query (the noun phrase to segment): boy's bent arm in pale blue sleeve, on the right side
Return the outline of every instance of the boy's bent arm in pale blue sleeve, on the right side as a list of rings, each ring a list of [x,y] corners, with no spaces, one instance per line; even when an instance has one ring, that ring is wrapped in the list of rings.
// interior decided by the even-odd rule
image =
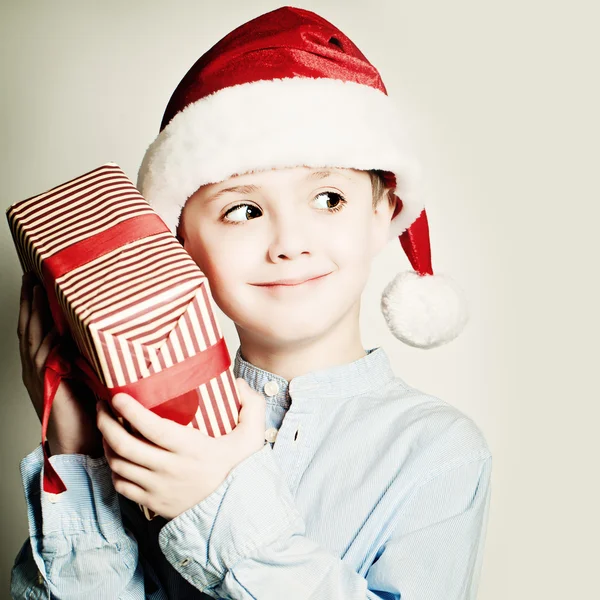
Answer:
[[[480,453],[424,481],[394,523],[381,524],[391,531],[366,557],[365,577],[305,536],[268,444],[167,523],[159,541],[175,569],[214,598],[474,600],[490,471],[491,456]]]

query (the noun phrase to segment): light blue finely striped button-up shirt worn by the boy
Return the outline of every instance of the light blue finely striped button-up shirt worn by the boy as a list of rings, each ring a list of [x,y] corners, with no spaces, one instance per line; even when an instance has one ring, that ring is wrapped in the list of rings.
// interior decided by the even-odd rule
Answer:
[[[21,462],[30,537],[15,598],[472,600],[490,502],[477,425],[395,376],[382,348],[281,377],[234,373],[265,394],[266,443],[207,498],[146,521],[106,459],[57,455],[68,490]]]

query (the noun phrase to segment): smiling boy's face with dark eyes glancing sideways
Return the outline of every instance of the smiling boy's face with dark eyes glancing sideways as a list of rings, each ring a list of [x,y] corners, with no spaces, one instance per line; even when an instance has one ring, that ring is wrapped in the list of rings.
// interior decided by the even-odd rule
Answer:
[[[393,212],[386,199],[375,210],[372,198],[364,171],[249,173],[201,187],[180,235],[240,338],[283,348],[358,325]]]

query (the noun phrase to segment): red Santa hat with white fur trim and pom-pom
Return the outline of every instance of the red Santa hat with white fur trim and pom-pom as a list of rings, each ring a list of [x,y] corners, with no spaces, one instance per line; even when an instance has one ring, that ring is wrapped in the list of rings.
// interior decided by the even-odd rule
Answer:
[[[379,72],[339,29],[283,7],[238,27],[192,66],[149,146],[138,188],[176,232],[205,184],[283,167],[381,170],[398,197],[391,236],[414,271],[398,274],[381,310],[403,342],[433,348],[467,322],[453,282],[433,275],[419,167]]]

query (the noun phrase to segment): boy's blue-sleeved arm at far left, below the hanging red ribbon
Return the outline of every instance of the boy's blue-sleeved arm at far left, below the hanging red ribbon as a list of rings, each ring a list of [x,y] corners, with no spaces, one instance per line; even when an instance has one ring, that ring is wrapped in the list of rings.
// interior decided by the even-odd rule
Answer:
[[[56,498],[41,492],[41,445],[21,461],[30,537],[12,569],[12,597],[143,600],[137,542],[123,527],[106,459],[50,462],[67,486]]]

